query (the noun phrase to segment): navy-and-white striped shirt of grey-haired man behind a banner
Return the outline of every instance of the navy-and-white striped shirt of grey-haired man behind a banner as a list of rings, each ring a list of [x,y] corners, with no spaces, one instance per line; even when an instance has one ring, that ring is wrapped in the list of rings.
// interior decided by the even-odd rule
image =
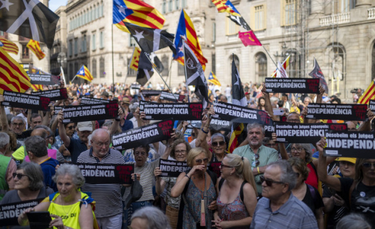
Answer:
[[[109,149],[108,154],[100,161],[93,155],[91,147],[79,155],[77,163],[125,164],[125,161],[122,154],[115,149]],[[95,216],[97,218],[122,213],[121,184],[85,183],[81,190],[92,193],[91,197],[96,201]]]

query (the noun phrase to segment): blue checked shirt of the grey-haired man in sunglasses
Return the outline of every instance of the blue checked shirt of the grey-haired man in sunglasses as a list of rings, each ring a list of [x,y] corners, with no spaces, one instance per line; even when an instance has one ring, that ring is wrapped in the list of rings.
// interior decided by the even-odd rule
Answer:
[[[318,229],[311,209],[290,193],[288,201],[272,212],[269,199],[259,200],[250,229]]]

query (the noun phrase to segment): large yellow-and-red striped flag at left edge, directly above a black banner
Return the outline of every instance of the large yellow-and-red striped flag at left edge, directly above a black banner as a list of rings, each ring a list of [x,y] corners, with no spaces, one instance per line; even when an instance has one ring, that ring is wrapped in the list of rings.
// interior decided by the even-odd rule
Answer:
[[[30,77],[21,65],[0,48],[0,94],[3,91],[26,92],[31,86]]]

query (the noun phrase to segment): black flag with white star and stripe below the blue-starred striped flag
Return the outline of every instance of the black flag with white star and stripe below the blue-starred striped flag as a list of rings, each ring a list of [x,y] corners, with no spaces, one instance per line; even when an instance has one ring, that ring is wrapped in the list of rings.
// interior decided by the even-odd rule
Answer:
[[[174,36],[165,30],[151,29],[125,22],[126,28],[136,40],[142,51],[150,54],[161,48],[168,47],[176,54],[176,47],[173,44]]]

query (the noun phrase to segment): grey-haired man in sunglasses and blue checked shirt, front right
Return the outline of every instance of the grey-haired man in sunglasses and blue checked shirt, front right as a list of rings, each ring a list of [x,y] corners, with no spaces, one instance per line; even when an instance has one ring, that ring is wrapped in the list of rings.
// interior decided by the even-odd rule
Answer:
[[[287,161],[268,165],[261,176],[263,198],[255,208],[250,229],[318,229],[314,213],[291,192],[296,180],[297,176]]]

